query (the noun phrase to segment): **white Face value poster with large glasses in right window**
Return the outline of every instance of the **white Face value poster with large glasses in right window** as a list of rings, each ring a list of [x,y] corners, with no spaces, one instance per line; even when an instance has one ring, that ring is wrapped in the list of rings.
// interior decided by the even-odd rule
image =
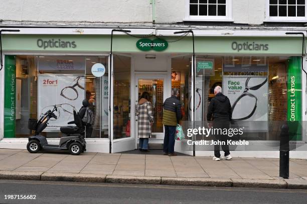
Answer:
[[[233,121],[267,121],[267,77],[224,76],[223,88],[230,100]],[[267,126],[254,122],[249,123],[248,129],[267,130]]]

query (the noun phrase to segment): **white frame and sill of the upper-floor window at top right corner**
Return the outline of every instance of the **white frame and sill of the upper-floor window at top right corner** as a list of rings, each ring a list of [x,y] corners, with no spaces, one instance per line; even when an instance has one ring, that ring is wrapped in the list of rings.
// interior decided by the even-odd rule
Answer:
[[[270,1],[265,0],[265,22],[307,22],[307,0],[305,0],[305,17],[270,17]]]

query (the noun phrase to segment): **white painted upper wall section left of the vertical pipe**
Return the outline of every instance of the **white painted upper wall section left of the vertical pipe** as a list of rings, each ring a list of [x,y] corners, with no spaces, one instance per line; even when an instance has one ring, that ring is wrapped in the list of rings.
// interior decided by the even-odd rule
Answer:
[[[25,22],[152,22],[149,0],[1,0],[0,19]]]

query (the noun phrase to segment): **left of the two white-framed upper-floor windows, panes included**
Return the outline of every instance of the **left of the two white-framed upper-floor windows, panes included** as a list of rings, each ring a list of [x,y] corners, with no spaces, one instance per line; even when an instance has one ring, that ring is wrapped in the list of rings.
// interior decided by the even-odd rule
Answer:
[[[230,21],[231,0],[186,0],[187,21]]]

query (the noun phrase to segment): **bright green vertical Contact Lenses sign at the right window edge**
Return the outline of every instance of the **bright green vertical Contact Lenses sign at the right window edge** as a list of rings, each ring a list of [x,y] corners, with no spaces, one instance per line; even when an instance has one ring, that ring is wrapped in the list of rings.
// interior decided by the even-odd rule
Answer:
[[[290,140],[300,141],[301,135],[301,58],[290,57],[287,76],[287,120]]]

